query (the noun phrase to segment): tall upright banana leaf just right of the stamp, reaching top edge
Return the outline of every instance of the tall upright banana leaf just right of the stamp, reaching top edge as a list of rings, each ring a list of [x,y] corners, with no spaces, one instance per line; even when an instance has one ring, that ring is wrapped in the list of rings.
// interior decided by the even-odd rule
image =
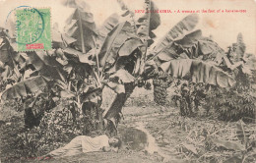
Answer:
[[[89,5],[83,0],[69,0],[66,5],[75,8],[67,20],[65,32],[77,39],[76,47],[83,53],[95,47],[96,24]]]

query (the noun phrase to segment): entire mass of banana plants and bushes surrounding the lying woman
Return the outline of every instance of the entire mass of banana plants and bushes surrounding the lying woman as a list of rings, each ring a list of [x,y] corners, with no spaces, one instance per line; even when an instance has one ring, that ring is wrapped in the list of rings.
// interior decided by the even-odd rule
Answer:
[[[230,64],[230,54],[203,37],[200,29],[193,30],[197,15],[170,28],[150,50],[156,37],[153,30],[160,26],[159,13],[145,13],[135,20],[134,13],[122,1],[118,3],[124,14],[111,15],[101,27],[96,27],[84,1],[64,3],[74,12],[64,32],[54,24],[53,49],[48,51],[17,52],[15,37],[0,28],[1,98],[22,103],[19,111],[24,112],[25,128],[15,140],[19,150],[25,149],[22,155],[38,156],[74,136],[95,131],[117,135],[127,98],[136,86],[150,88],[150,79],[160,105],[165,103],[166,88],[179,85],[175,101],[182,116],[194,116],[205,104],[222,120],[255,118],[251,75],[244,73],[240,61]],[[158,8],[145,0],[145,9]],[[242,54],[235,60],[245,51],[241,36],[238,40],[234,46]],[[101,108],[104,86],[115,92],[105,111]]]

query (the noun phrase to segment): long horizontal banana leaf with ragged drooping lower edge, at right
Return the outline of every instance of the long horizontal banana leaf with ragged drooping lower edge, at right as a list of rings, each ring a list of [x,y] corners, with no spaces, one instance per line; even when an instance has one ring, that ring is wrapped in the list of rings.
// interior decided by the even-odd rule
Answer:
[[[200,60],[171,60],[161,64],[160,69],[175,78],[189,76],[193,82],[204,82],[221,87],[230,87],[235,83],[234,79],[220,68]]]

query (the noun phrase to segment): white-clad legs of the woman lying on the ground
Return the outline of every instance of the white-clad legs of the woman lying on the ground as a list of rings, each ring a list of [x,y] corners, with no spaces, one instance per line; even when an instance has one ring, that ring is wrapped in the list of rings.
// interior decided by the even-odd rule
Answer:
[[[63,157],[81,153],[83,136],[76,136],[67,145],[51,151],[48,155],[51,157]]]

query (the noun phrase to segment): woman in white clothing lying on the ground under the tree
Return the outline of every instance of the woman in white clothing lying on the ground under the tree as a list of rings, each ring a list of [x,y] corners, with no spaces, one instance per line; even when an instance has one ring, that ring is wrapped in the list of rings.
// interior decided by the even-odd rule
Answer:
[[[51,157],[65,157],[76,154],[96,152],[96,151],[118,151],[121,146],[121,140],[119,137],[102,136],[76,136],[67,145],[60,147],[56,150],[44,155],[44,158]]]

